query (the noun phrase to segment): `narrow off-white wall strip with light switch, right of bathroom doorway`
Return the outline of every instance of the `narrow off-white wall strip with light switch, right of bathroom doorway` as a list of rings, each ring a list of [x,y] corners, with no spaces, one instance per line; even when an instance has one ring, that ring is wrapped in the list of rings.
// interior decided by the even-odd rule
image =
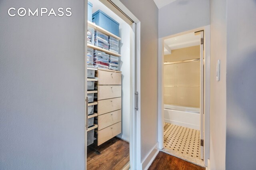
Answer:
[[[210,170],[225,169],[226,11],[226,0],[210,1]],[[220,81],[216,81],[216,63],[218,59],[220,59]]]

